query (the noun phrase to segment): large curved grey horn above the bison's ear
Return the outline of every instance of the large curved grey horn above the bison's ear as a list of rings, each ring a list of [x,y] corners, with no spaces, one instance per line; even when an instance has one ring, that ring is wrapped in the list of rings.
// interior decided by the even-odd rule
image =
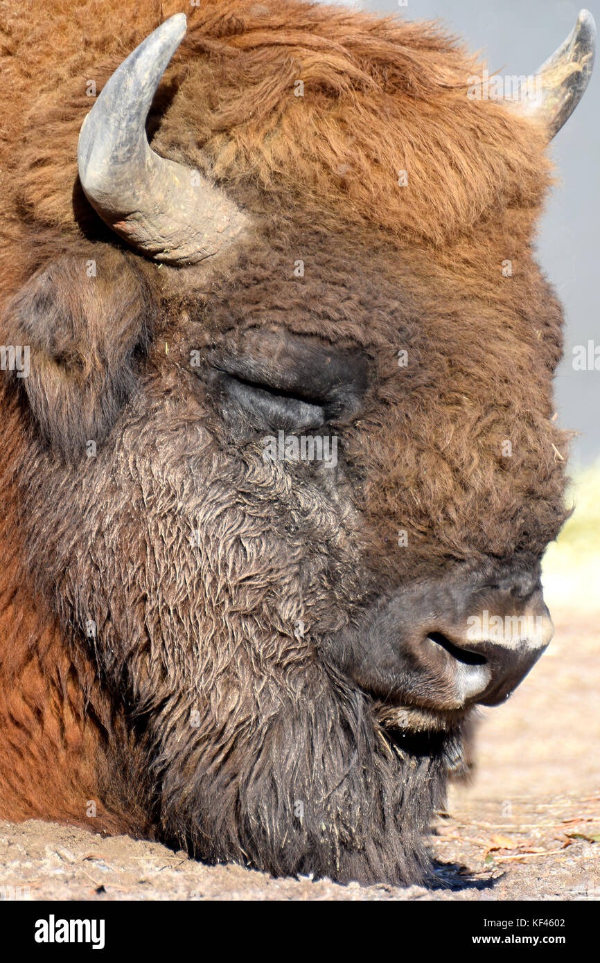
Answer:
[[[199,171],[159,157],[147,142],[152,97],[186,32],[165,21],[105,84],[79,133],[81,186],[103,221],[157,261],[194,264],[216,254],[246,223]]]

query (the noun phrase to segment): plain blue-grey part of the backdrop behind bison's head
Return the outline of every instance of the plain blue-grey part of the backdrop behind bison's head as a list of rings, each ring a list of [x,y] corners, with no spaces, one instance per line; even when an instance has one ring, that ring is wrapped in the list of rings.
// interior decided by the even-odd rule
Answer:
[[[570,0],[408,0],[402,8],[397,0],[362,0],[346,6],[411,20],[439,18],[482,52],[490,73],[509,74],[535,73],[571,32],[581,9]],[[600,27],[600,0],[588,0],[587,10]],[[548,198],[537,242],[538,260],[564,305],[565,356],[556,399],[561,426],[581,432],[573,443],[573,468],[600,456],[600,371],[574,371],[572,365],[575,345],[590,339],[600,345],[599,101],[600,55],[584,99],[552,143],[561,183]]]

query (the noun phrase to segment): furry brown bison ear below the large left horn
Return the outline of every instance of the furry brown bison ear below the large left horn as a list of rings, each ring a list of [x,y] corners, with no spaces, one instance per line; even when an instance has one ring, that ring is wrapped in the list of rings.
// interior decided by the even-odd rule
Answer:
[[[106,438],[135,386],[155,314],[143,269],[112,249],[53,261],[13,299],[4,337],[55,451],[75,459]]]

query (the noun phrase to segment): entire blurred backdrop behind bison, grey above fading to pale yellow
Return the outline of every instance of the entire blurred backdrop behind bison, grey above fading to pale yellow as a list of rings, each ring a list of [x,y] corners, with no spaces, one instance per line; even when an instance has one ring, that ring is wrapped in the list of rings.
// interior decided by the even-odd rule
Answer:
[[[490,73],[517,75],[535,73],[571,32],[581,9],[571,0],[348,0],[344,5],[411,20],[438,19],[448,33],[482,53]],[[599,0],[587,0],[587,9],[600,25]],[[578,434],[569,462],[568,498],[575,512],[546,553],[543,582],[553,614],[570,610],[600,617],[600,56],[586,95],[550,150],[560,179],[539,225],[537,256],[566,320],[555,382],[559,424]],[[598,349],[598,370],[577,371],[573,351],[589,341]]]

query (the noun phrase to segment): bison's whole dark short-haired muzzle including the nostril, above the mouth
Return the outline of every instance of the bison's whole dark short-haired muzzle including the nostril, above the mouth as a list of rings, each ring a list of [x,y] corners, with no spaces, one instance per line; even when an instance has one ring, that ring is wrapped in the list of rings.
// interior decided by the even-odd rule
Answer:
[[[454,712],[506,699],[553,632],[537,570],[458,569],[402,586],[321,651],[378,699]]]

